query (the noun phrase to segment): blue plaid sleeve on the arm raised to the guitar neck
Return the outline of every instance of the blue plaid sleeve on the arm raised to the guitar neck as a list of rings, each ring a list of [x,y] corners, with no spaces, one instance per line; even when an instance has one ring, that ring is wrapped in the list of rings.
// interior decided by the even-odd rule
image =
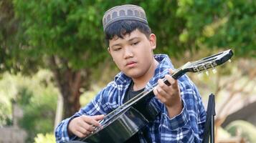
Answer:
[[[202,99],[196,87],[190,81],[179,82],[183,109],[173,118],[161,104],[160,142],[202,142],[204,133],[205,111]]]

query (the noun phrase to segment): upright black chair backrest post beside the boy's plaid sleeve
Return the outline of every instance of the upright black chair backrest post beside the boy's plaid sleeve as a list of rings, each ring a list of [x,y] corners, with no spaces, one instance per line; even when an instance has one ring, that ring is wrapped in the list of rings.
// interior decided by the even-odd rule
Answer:
[[[203,143],[209,143],[209,137],[211,135],[211,143],[214,143],[214,116],[215,113],[215,97],[214,94],[209,95],[207,104],[207,119],[204,124],[204,137]]]

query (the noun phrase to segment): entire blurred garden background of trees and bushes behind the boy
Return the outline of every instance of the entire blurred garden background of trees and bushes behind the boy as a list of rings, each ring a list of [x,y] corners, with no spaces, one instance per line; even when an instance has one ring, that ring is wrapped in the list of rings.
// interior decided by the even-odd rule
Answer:
[[[188,74],[205,107],[216,96],[216,142],[256,142],[256,1],[0,0],[0,142],[55,142],[54,127],[118,72],[102,17],[137,4],[176,68],[232,49],[217,74]]]

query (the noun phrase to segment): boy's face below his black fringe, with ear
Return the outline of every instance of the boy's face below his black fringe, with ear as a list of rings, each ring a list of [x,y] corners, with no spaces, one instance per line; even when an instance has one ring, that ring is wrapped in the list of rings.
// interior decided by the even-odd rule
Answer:
[[[153,49],[156,49],[156,36],[151,34],[147,38],[136,29],[131,34],[123,36],[123,39],[118,36],[111,39],[108,51],[125,75],[140,78],[152,69]]]

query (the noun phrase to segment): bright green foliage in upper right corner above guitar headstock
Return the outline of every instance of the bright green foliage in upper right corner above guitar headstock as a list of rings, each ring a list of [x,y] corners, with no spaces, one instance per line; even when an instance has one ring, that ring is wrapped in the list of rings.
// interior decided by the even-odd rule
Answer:
[[[180,35],[197,48],[232,47],[236,56],[256,57],[255,1],[181,0],[177,16],[186,27]]]

